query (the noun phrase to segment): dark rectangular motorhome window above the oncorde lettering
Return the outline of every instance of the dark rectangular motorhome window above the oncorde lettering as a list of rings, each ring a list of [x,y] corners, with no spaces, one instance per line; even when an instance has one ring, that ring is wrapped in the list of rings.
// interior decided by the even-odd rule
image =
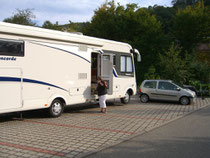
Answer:
[[[0,55],[24,56],[24,42],[0,39]]]

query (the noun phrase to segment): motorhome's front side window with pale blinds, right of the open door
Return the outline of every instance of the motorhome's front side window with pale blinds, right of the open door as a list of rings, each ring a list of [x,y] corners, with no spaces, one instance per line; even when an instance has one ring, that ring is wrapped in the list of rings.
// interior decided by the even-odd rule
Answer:
[[[132,73],[133,64],[131,56],[121,56],[120,57],[120,71],[122,73]]]

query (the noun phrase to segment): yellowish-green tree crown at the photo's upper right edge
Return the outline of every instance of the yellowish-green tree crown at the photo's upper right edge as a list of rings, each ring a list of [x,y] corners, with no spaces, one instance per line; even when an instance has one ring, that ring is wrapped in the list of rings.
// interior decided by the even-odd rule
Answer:
[[[174,17],[172,34],[184,51],[192,51],[198,43],[209,38],[209,8],[203,2],[179,9]]]

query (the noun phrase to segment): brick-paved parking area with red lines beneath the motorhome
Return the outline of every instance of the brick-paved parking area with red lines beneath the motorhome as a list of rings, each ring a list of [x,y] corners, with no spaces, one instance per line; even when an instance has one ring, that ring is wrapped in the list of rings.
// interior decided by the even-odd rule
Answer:
[[[85,157],[210,105],[210,98],[192,105],[178,103],[108,103],[108,113],[96,104],[72,106],[59,118],[42,111],[0,115],[1,158]]]

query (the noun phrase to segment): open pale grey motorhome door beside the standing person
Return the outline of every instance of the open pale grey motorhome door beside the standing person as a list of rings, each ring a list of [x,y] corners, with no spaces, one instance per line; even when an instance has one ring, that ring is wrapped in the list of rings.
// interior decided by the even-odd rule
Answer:
[[[113,55],[105,54],[101,55],[101,77],[108,84],[108,94],[113,93]]]

